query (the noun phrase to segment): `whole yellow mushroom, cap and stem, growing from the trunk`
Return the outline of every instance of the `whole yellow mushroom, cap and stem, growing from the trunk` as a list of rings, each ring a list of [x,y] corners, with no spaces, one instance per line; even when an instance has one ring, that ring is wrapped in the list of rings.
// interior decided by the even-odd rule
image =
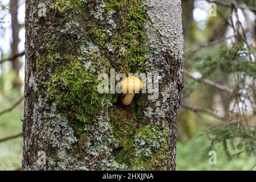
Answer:
[[[127,106],[133,101],[134,94],[142,89],[142,81],[138,77],[129,76],[121,82],[120,88],[123,92],[121,101],[123,105]]]

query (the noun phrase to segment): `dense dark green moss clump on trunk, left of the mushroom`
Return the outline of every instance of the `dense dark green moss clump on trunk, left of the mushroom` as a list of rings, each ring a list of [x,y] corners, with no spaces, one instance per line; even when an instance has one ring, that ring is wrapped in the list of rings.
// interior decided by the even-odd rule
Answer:
[[[85,71],[83,61],[73,56],[68,59],[69,64],[56,68],[48,82],[48,92],[57,96],[55,100],[60,109],[72,113],[82,123],[92,123],[109,95],[98,93],[97,74],[90,68]]]

